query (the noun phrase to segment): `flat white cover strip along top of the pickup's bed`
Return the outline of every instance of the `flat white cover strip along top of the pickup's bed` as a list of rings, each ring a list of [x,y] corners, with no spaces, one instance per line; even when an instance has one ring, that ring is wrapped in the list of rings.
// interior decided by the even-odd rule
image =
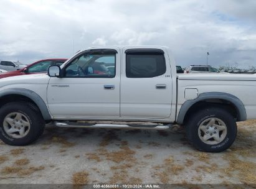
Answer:
[[[178,75],[179,80],[237,80],[256,81],[253,74],[223,74],[223,73],[186,73]]]

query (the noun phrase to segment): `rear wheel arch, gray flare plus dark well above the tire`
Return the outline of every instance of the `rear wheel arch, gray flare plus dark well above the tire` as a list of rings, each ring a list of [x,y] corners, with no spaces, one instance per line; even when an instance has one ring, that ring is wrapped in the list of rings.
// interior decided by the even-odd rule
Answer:
[[[179,110],[176,122],[183,124],[189,114],[200,108],[206,108],[206,106],[225,108],[232,113],[237,121],[245,121],[247,119],[244,104],[239,98],[229,93],[209,92],[201,93],[198,98],[186,101]]]

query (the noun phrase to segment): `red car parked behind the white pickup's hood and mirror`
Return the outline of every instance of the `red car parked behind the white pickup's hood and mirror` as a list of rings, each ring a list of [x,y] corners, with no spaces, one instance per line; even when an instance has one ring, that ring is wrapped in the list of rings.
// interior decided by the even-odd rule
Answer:
[[[34,74],[34,73],[46,73],[47,69],[51,65],[62,65],[67,59],[66,58],[51,58],[51,59],[44,59],[39,60],[37,62],[32,63],[31,65],[28,65],[25,68],[22,68],[21,70],[16,71],[9,71],[6,73],[0,74],[1,78],[7,78],[9,76],[17,76],[17,75],[26,75],[26,74]]]

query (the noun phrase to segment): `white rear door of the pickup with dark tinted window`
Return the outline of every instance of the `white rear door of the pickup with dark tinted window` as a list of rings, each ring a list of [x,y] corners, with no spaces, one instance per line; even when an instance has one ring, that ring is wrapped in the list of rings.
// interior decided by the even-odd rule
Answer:
[[[124,48],[121,70],[121,118],[170,116],[173,86],[164,49]]]

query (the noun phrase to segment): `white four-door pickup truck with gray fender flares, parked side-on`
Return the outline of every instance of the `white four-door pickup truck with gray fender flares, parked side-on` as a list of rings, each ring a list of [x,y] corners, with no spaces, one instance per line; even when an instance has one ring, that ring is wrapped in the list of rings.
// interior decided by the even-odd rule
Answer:
[[[196,149],[220,152],[234,142],[237,121],[256,118],[255,94],[254,75],[176,75],[168,47],[92,47],[49,67],[48,75],[0,79],[0,139],[31,144],[50,121],[131,129],[178,123]]]

